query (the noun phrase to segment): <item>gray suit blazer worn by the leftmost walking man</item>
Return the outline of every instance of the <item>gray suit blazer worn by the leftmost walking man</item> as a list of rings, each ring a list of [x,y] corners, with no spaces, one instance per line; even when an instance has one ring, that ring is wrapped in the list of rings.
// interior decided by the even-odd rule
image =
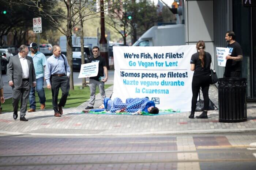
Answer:
[[[33,82],[36,82],[33,59],[29,56],[26,56],[26,58],[29,66],[29,84],[30,87],[33,87]],[[14,83],[14,87],[20,87],[22,85],[22,67],[18,54],[10,57],[7,67],[7,74],[8,82],[12,81]]]

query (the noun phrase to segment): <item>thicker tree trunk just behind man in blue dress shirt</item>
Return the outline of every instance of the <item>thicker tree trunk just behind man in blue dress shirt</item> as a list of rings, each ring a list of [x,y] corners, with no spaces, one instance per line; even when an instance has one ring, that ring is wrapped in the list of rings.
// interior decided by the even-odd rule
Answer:
[[[71,4],[70,0],[67,0],[67,60],[70,67],[69,85],[70,90],[74,90],[73,82],[73,61],[72,61],[72,25],[71,25]]]

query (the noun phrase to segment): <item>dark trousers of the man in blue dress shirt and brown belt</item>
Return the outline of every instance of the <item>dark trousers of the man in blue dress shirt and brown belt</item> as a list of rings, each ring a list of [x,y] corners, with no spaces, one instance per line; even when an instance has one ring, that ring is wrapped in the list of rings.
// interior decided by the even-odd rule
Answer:
[[[69,91],[69,78],[68,76],[57,76],[52,75],[50,78],[52,84],[52,105],[55,113],[60,113],[58,110],[58,106],[64,107],[68,97]],[[58,104],[58,95],[59,89],[61,88],[62,96],[60,98],[60,103]]]

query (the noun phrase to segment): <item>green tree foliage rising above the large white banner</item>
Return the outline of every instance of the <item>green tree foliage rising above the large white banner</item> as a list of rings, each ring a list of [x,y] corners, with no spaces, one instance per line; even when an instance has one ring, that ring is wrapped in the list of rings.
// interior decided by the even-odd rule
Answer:
[[[131,16],[128,19],[128,16]],[[106,23],[123,37],[126,44],[127,35],[132,36],[133,43],[137,40],[137,35],[142,35],[155,23],[163,20],[162,15],[158,15],[157,7],[148,0],[135,0],[122,3],[120,8],[113,9],[108,14]]]

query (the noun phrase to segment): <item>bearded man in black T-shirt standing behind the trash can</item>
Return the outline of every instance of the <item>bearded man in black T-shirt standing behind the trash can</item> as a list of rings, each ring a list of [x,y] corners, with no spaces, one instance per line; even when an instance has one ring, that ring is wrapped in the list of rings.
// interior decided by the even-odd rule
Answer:
[[[227,48],[229,48],[229,55],[226,56],[226,67],[224,72],[224,78],[240,77],[241,65],[242,65],[242,48],[236,41],[236,35],[233,31],[227,31],[225,40]]]

